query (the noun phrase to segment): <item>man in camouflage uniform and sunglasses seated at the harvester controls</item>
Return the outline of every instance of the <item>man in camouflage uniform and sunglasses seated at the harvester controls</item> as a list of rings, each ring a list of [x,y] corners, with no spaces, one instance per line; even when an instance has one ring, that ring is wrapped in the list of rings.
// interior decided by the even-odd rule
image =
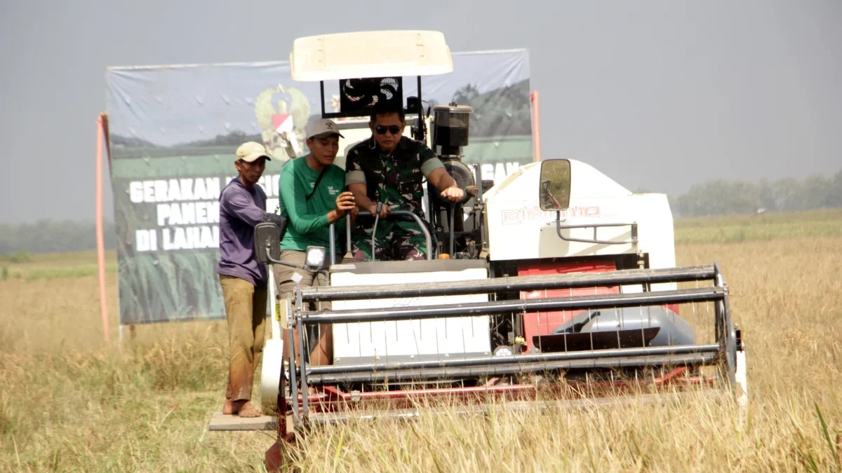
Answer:
[[[465,195],[433,150],[402,136],[406,125],[400,104],[378,101],[369,121],[371,138],[352,147],[345,157],[345,183],[356,205],[376,215],[377,204],[382,204],[381,219],[392,210],[409,210],[423,218],[424,178],[451,202]],[[371,230],[370,223],[354,229],[355,262],[371,259]],[[426,258],[424,233],[415,221],[379,221],[374,246],[378,261]]]

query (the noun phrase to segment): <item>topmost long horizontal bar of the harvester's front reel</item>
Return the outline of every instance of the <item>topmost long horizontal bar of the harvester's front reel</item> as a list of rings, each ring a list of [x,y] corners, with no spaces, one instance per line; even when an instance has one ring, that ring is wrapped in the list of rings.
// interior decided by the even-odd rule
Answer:
[[[390,286],[319,286],[301,289],[301,300],[360,300],[426,295],[491,294],[500,291],[554,290],[610,287],[630,284],[680,283],[713,280],[713,265],[663,269],[621,269],[605,274],[553,274],[507,276],[446,283],[396,284]]]

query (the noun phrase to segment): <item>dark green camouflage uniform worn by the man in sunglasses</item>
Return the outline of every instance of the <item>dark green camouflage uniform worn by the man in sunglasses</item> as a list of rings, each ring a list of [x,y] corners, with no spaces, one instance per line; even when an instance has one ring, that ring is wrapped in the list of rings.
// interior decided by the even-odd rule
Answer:
[[[422,181],[438,167],[444,167],[433,150],[421,141],[402,136],[391,153],[381,151],[372,136],[350,149],[345,157],[345,184],[365,183],[368,198],[392,210],[409,210],[424,218]],[[360,218],[351,234],[355,261],[371,259],[371,230],[374,219]],[[415,221],[378,221],[376,259],[424,259],[424,233]]]

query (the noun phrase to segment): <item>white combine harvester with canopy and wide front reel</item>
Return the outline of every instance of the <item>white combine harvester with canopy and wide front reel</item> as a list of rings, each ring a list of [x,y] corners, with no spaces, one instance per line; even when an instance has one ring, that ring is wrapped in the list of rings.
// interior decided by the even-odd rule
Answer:
[[[327,271],[330,285],[296,288],[273,311],[261,383],[274,416],[214,417],[212,430],[277,429],[266,457],[278,468],[282,445],[304,428],[370,417],[370,406],[376,417],[414,417],[435,412],[419,405],[443,400],[450,412],[454,401],[457,411],[483,412],[492,403],[587,406],[701,388],[732,390],[745,405],[743,344],[722,271],[675,267],[665,195],[632,194],[566,159],[520,167],[496,185],[477,181],[478,168],[461,162],[472,109],[438,106],[430,117],[422,106],[421,76],[453,70],[440,33],[302,38],[290,64],[294,79],[322,82],[322,116],[339,119],[346,136],[340,149],[370,136],[369,112],[325,113],[324,81],[386,88],[403,103],[393,79],[418,76],[418,97],[406,100],[413,137],[439,154],[466,201],[428,192],[426,219],[387,217],[416,221],[428,261],[326,261],[333,247],[308,248],[309,269]],[[331,230],[336,242],[336,231],[350,228]],[[261,262],[279,263],[277,226],[258,225],[255,245]],[[305,310],[328,300],[330,311]],[[304,329],[325,324],[332,364],[307,364]],[[301,362],[285,357],[284,332],[297,337]]]

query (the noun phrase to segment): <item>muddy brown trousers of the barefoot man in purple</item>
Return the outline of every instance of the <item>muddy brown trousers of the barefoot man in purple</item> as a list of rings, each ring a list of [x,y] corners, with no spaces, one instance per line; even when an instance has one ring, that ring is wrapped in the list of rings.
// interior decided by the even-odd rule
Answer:
[[[219,275],[228,319],[228,387],[225,396],[232,401],[250,401],[254,370],[260,363],[266,338],[267,288],[254,287],[245,279]]]

